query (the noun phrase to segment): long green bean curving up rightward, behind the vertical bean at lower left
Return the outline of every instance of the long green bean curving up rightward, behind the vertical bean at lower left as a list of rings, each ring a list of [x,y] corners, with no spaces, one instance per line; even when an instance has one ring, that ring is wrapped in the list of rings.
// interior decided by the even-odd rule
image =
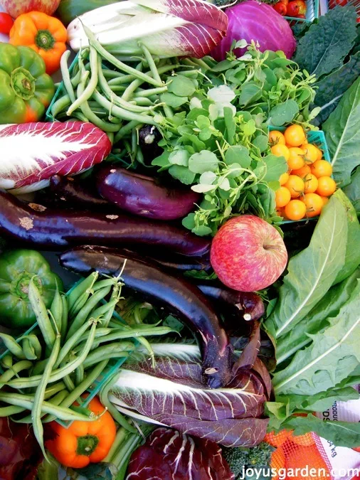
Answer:
[[[88,356],[92,343],[94,343],[96,324],[97,324],[97,321],[95,320],[92,321],[90,335],[88,336],[88,340],[86,341],[83,351],[80,353],[80,356],[75,358],[75,360],[70,361],[65,366],[58,368],[58,370],[54,370],[53,373],[51,373],[50,375],[48,383],[53,383],[53,382],[57,382],[58,380],[62,380],[65,377],[65,375],[69,375],[70,373],[72,373],[75,370],[75,368],[78,368],[78,366],[85,361],[85,358]],[[15,380],[11,380],[11,382],[8,383],[8,386],[12,388],[16,388],[17,390],[21,388],[37,387],[41,381],[41,377],[42,375],[33,375],[30,378],[16,378]],[[1,386],[1,383],[0,383],[0,386]]]

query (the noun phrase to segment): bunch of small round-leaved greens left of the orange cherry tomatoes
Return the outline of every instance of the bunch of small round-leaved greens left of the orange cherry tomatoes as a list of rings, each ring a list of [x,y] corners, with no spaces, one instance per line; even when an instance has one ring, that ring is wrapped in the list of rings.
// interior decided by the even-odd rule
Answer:
[[[245,46],[239,41],[233,48]],[[287,164],[270,153],[268,125],[308,127],[317,114],[309,110],[316,79],[282,52],[262,53],[254,43],[240,58],[231,50],[220,63],[201,61],[196,78],[193,71],[166,79],[161,100],[171,114],[154,116],[164,153],[152,164],[204,193],[183,220],[197,235],[216,233],[230,215],[245,211],[276,224],[275,191]]]

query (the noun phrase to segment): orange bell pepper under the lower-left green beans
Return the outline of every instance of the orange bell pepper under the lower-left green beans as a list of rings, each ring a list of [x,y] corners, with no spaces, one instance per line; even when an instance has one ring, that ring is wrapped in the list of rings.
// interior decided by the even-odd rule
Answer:
[[[96,397],[87,408],[96,415],[104,412]],[[93,422],[75,420],[68,428],[57,422],[51,422],[49,426],[55,438],[46,441],[46,448],[60,464],[75,469],[105,459],[116,436],[115,422],[109,412]]]

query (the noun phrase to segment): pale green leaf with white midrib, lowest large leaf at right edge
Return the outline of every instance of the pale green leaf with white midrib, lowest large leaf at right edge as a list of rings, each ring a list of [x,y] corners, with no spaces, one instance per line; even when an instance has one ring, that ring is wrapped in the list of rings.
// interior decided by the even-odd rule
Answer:
[[[298,351],[290,364],[275,373],[272,384],[277,395],[316,395],[334,388],[360,363],[360,282],[339,314],[329,319],[312,344]]]

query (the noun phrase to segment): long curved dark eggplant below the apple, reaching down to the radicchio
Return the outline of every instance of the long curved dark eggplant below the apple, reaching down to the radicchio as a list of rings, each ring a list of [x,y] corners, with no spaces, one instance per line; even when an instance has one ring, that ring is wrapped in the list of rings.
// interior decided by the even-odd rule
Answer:
[[[164,306],[198,334],[204,385],[220,388],[231,379],[233,348],[221,319],[196,285],[142,257],[129,257],[129,252],[106,247],[75,247],[61,253],[59,261],[62,267],[83,275],[94,271],[118,275],[122,271],[127,288],[134,289],[152,304]]]

